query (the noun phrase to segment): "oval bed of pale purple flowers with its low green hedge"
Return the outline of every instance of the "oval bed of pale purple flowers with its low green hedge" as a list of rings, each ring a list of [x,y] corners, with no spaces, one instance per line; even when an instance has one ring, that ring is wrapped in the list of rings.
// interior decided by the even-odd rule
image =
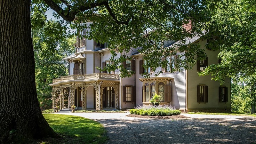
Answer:
[[[139,105],[138,107],[134,107],[134,109],[131,109],[130,113],[141,116],[172,116],[179,115],[181,112],[180,110],[176,110],[176,108],[171,105]]]

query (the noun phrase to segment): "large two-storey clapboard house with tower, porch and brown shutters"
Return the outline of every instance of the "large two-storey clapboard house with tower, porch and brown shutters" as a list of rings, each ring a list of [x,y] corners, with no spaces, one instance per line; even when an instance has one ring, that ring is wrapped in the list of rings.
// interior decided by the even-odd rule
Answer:
[[[84,29],[80,34],[85,35],[89,30]],[[75,105],[78,109],[128,109],[149,105],[150,98],[156,93],[161,96],[160,104],[172,105],[182,111],[230,110],[230,78],[220,85],[220,82],[211,80],[211,76],[197,74],[208,65],[217,64],[219,52],[206,49],[207,40],[200,37],[194,37],[190,42],[200,43],[207,55],[206,60],[198,60],[191,70],[171,73],[170,68],[159,67],[156,71],[162,70],[164,73],[154,76],[150,68],[143,68],[143,54],[130,51],[132,60],[126,60],[124,66],[127,70],[135,71],[135,74],[121,78],[119,69],[100,72],[96,68],[111,64],[111,54],[106,44],[77,37],[76,52],[63,59],[69,62],[69,75],[53,79],[50,84],[52,107],[60,105],[60,109],[64,109]],[[164,44],[171,46],[175,41],[166,41]],[[169,59],[176,57],[174,55]],[[144,72],[150,73],[150,78],[141,76]]]

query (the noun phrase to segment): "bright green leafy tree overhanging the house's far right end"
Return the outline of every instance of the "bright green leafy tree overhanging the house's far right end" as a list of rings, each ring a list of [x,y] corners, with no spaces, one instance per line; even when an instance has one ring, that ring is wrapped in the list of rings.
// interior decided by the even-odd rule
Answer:
[[[224,82],[231,77],[236,82],[252,86],[252,111],[255,113],[256,80],[256,2],[249,0],[223,1],[212,11],[206,37],[208,46],[220,49],[221,62],[208,66],[200,75],[213,76]],[[237,93],[239,94],[239,93]],[[248,95],[247,95],[248,96]]]

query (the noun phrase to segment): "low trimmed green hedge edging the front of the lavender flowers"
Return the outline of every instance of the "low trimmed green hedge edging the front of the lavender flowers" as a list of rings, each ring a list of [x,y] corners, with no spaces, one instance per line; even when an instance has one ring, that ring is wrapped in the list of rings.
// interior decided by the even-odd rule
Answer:
[[[181,114],[180,110],[131,109],[131,114],[141,116],[173,116]]]

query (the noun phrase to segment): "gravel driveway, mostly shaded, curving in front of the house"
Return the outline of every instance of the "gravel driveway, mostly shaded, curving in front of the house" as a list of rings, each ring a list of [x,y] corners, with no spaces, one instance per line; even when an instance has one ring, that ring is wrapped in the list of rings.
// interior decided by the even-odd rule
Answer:
[[[256,117],[189,115],[190,119],[141,119],[127,113],[69,113],[104,125],[109,140],[118,143],[256,143]]]

